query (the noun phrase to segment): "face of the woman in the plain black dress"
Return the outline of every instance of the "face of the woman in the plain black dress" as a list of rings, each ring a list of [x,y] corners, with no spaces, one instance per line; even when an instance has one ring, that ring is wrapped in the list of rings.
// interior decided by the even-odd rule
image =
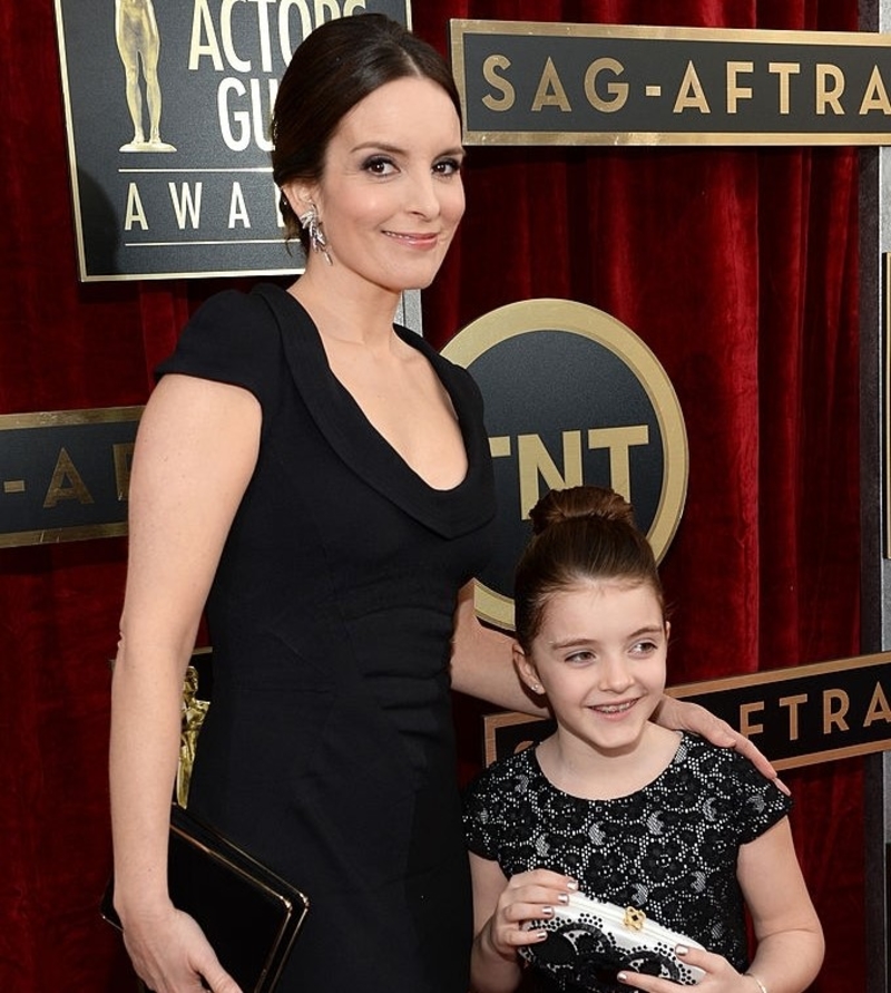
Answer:
[[[462,158],[458,115],[431,80],[398,79],[356,104],[321,182],[303,189],[339,275],[396,292],[429,285],[464,212]]]

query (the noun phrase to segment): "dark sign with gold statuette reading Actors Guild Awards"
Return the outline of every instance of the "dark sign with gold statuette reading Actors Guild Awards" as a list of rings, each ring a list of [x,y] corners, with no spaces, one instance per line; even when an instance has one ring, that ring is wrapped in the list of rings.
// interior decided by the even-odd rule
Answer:
[[[323,21],[409,0],[56,0],[79,276],[284,274],[268,120]]]

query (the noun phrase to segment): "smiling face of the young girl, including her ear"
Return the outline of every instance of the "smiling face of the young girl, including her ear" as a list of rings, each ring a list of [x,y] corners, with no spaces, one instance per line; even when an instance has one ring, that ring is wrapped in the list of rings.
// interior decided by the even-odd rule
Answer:
[[[548,600],[527,685],[544,688],[559,732],[605,755],[638,744],[665,689],[668,624],[648,585],[590,582]]]

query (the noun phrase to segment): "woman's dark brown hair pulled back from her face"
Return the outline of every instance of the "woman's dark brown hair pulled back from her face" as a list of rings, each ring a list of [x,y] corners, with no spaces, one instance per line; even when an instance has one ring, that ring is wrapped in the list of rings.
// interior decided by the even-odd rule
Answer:
[[[332,135],[360,100],[386,82],[422,77],[451,98],[458,119],[461,100],[440,53],[382,13],[356,13],[326,21],[306,36],[282,77],[272,116],[272,175],[276,186],[322,178]],[[280,206],[286,237],[309,235],[284,194]]]

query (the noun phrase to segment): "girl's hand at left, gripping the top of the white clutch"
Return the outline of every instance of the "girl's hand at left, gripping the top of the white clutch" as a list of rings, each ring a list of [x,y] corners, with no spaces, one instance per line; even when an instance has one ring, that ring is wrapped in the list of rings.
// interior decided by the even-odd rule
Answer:
[[[575,879],[550,869],[512,876],[483,928],[487,943],[502,958],[512,961],[521,945],[533,945],[547,937],[548,933],[535,927],[535,922],[552,917],[554,908],[567,903],[575,889]]]

